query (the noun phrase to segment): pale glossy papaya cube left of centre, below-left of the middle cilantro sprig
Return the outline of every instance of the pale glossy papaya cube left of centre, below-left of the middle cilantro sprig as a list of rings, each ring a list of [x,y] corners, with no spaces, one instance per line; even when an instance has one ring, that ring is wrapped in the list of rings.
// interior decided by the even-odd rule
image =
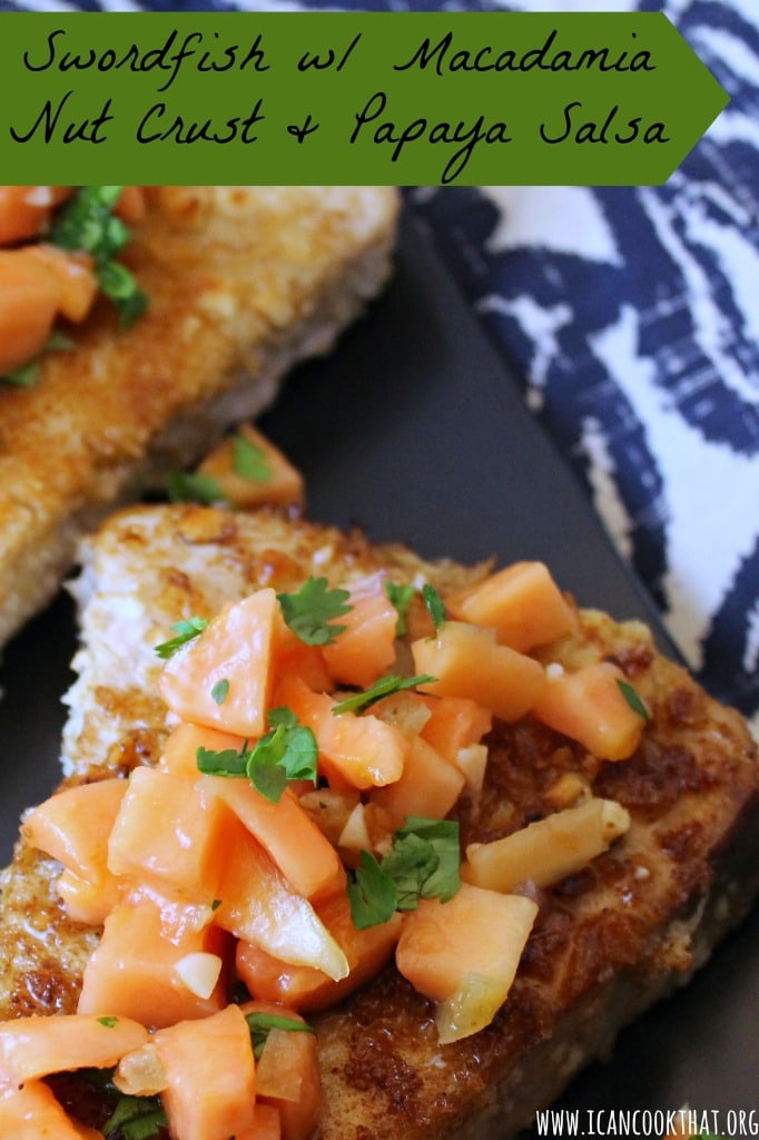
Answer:
[[[190,902],[215,898],[230,814],[201,780],[136,768],[111,832],[109,871]]]

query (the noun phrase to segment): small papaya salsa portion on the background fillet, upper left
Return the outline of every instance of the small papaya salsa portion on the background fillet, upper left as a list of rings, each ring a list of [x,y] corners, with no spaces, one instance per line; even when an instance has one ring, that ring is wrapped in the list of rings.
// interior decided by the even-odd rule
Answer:
[[[44,351],[70,344],[98,293],[123,323],[145,296],[116,254],[146,210],[139,186],[0,186],[0,382],[28,386]]]

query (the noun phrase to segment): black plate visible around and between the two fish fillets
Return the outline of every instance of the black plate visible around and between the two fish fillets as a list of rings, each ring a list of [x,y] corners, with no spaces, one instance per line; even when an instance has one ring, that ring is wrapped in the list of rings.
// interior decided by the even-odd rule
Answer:
[[[374,539],[403,539],[427,556],[544,559],[581,604],[647,620],[660,645],[675,652],[583,492],[408,220],[392,287],[333,357],[291,377],[262,426],[305,474],[312,518],[360,523]],[[72,606],[62,596],[6,653],[5,858],[19,812],[57,780],[59,697],[71,679],[73,649]],[[729,1127],[728,1113],[752,1109],[758,946],[754,912],[687,991],[628,1029],[610,1064],[576,1082],[562,1105],[580,1110],[579,1134],[614,1134],[609,1119],[593,1129],[588,1109],[688,1102],[719,1110],[717,1131]],[[759,1115],[752,1119],[756,1133]],[[740,1134],[752,1134],[749,1118]]]

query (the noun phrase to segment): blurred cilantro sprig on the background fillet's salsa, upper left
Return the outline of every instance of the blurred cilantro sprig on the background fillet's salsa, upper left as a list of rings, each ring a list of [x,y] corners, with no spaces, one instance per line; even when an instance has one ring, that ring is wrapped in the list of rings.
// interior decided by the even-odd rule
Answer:
[[[123,189],[81,186],[58,213],[49,241],[64,250],[83,250],[95,259],[98,285],[114,302],[125,326],[145,311],[147,298],[130,270],[116,261],[129,241],[129,227],[113,213]]]

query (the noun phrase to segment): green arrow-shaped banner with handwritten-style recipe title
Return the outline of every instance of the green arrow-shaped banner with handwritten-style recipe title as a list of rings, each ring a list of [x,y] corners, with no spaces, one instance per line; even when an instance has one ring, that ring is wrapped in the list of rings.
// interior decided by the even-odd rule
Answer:
[[[8,185],[664,182],[728,97],[661,13],[5,13]]]

